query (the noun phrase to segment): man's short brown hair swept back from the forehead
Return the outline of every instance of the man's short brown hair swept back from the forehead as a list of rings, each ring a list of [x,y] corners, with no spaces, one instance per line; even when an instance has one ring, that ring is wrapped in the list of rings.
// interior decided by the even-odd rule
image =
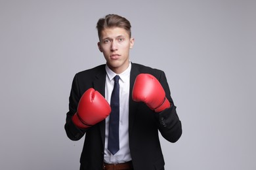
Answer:
[[[108,14],[104,18],[100,18],[97,22],[96,28],[98,29],[98,38],[100,39],[104,29],[111,27],[121,27],[125,29],[129,37],[131,37],[131,24],[129,20],[117,14]]]

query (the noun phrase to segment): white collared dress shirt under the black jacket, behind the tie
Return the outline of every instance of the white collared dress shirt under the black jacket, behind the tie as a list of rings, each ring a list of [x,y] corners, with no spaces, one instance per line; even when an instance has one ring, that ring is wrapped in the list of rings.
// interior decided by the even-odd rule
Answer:
[[[114,73],[108,65],[106,65],[106,84],[105,84],[105,98],[110,103],[111,94],[114,88]],[[119,74],[119,151],[115,155],[112,155],[108,150],[108,127],[110,116],[106,118],[106,137],[105,137],[105,149],[104,149],[104,161],[106,163],[123,163],[131,161],[131,154],[129,148],[129,90],[130,90],[130,73],[131,73],[131,61],[129,67]]]

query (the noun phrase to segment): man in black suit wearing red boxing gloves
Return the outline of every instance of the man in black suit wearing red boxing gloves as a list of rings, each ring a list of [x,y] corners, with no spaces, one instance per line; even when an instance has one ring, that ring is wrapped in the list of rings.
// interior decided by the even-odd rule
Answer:
[[[162,170],[158,131],[171,143],[182,133],[165,73],[130,61],[127,19],[109,14],[96,27],[106,64],[75,75],[65,124],[71,140],[85,135],[80,169]]]

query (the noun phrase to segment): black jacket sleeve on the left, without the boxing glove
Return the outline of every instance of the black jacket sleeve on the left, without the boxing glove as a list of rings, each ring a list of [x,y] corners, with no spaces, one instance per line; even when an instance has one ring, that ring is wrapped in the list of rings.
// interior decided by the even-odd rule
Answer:
[[[75,114],[75,112],[77,112],[77,105],[79,103],[80,98],[81,98],[81,93],[79,92],[77,75],[75,75],[74,80],[72,82],[71,92],[70,92],[69,111],[66,114],[66,124],[64,126],[66,130],[66,134],[68,135],[68,138],[70,138],[72,141],[77,141],[81,139],[81,137],[83,137],[86,131],[84,129],[79,129],[72,122],[72,116]]]

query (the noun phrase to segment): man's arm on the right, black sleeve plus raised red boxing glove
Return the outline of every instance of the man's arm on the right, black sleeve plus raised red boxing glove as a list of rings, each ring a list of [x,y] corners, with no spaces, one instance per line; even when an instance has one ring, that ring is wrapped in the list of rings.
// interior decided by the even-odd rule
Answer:
[[[163,71],[158,73],[158,79],[150,74],[137,76],[133,86],[133,100],[142,101],[154,110],[161,135],[174,143],[181,137],[181,121],[171,99],[165,74]]]

